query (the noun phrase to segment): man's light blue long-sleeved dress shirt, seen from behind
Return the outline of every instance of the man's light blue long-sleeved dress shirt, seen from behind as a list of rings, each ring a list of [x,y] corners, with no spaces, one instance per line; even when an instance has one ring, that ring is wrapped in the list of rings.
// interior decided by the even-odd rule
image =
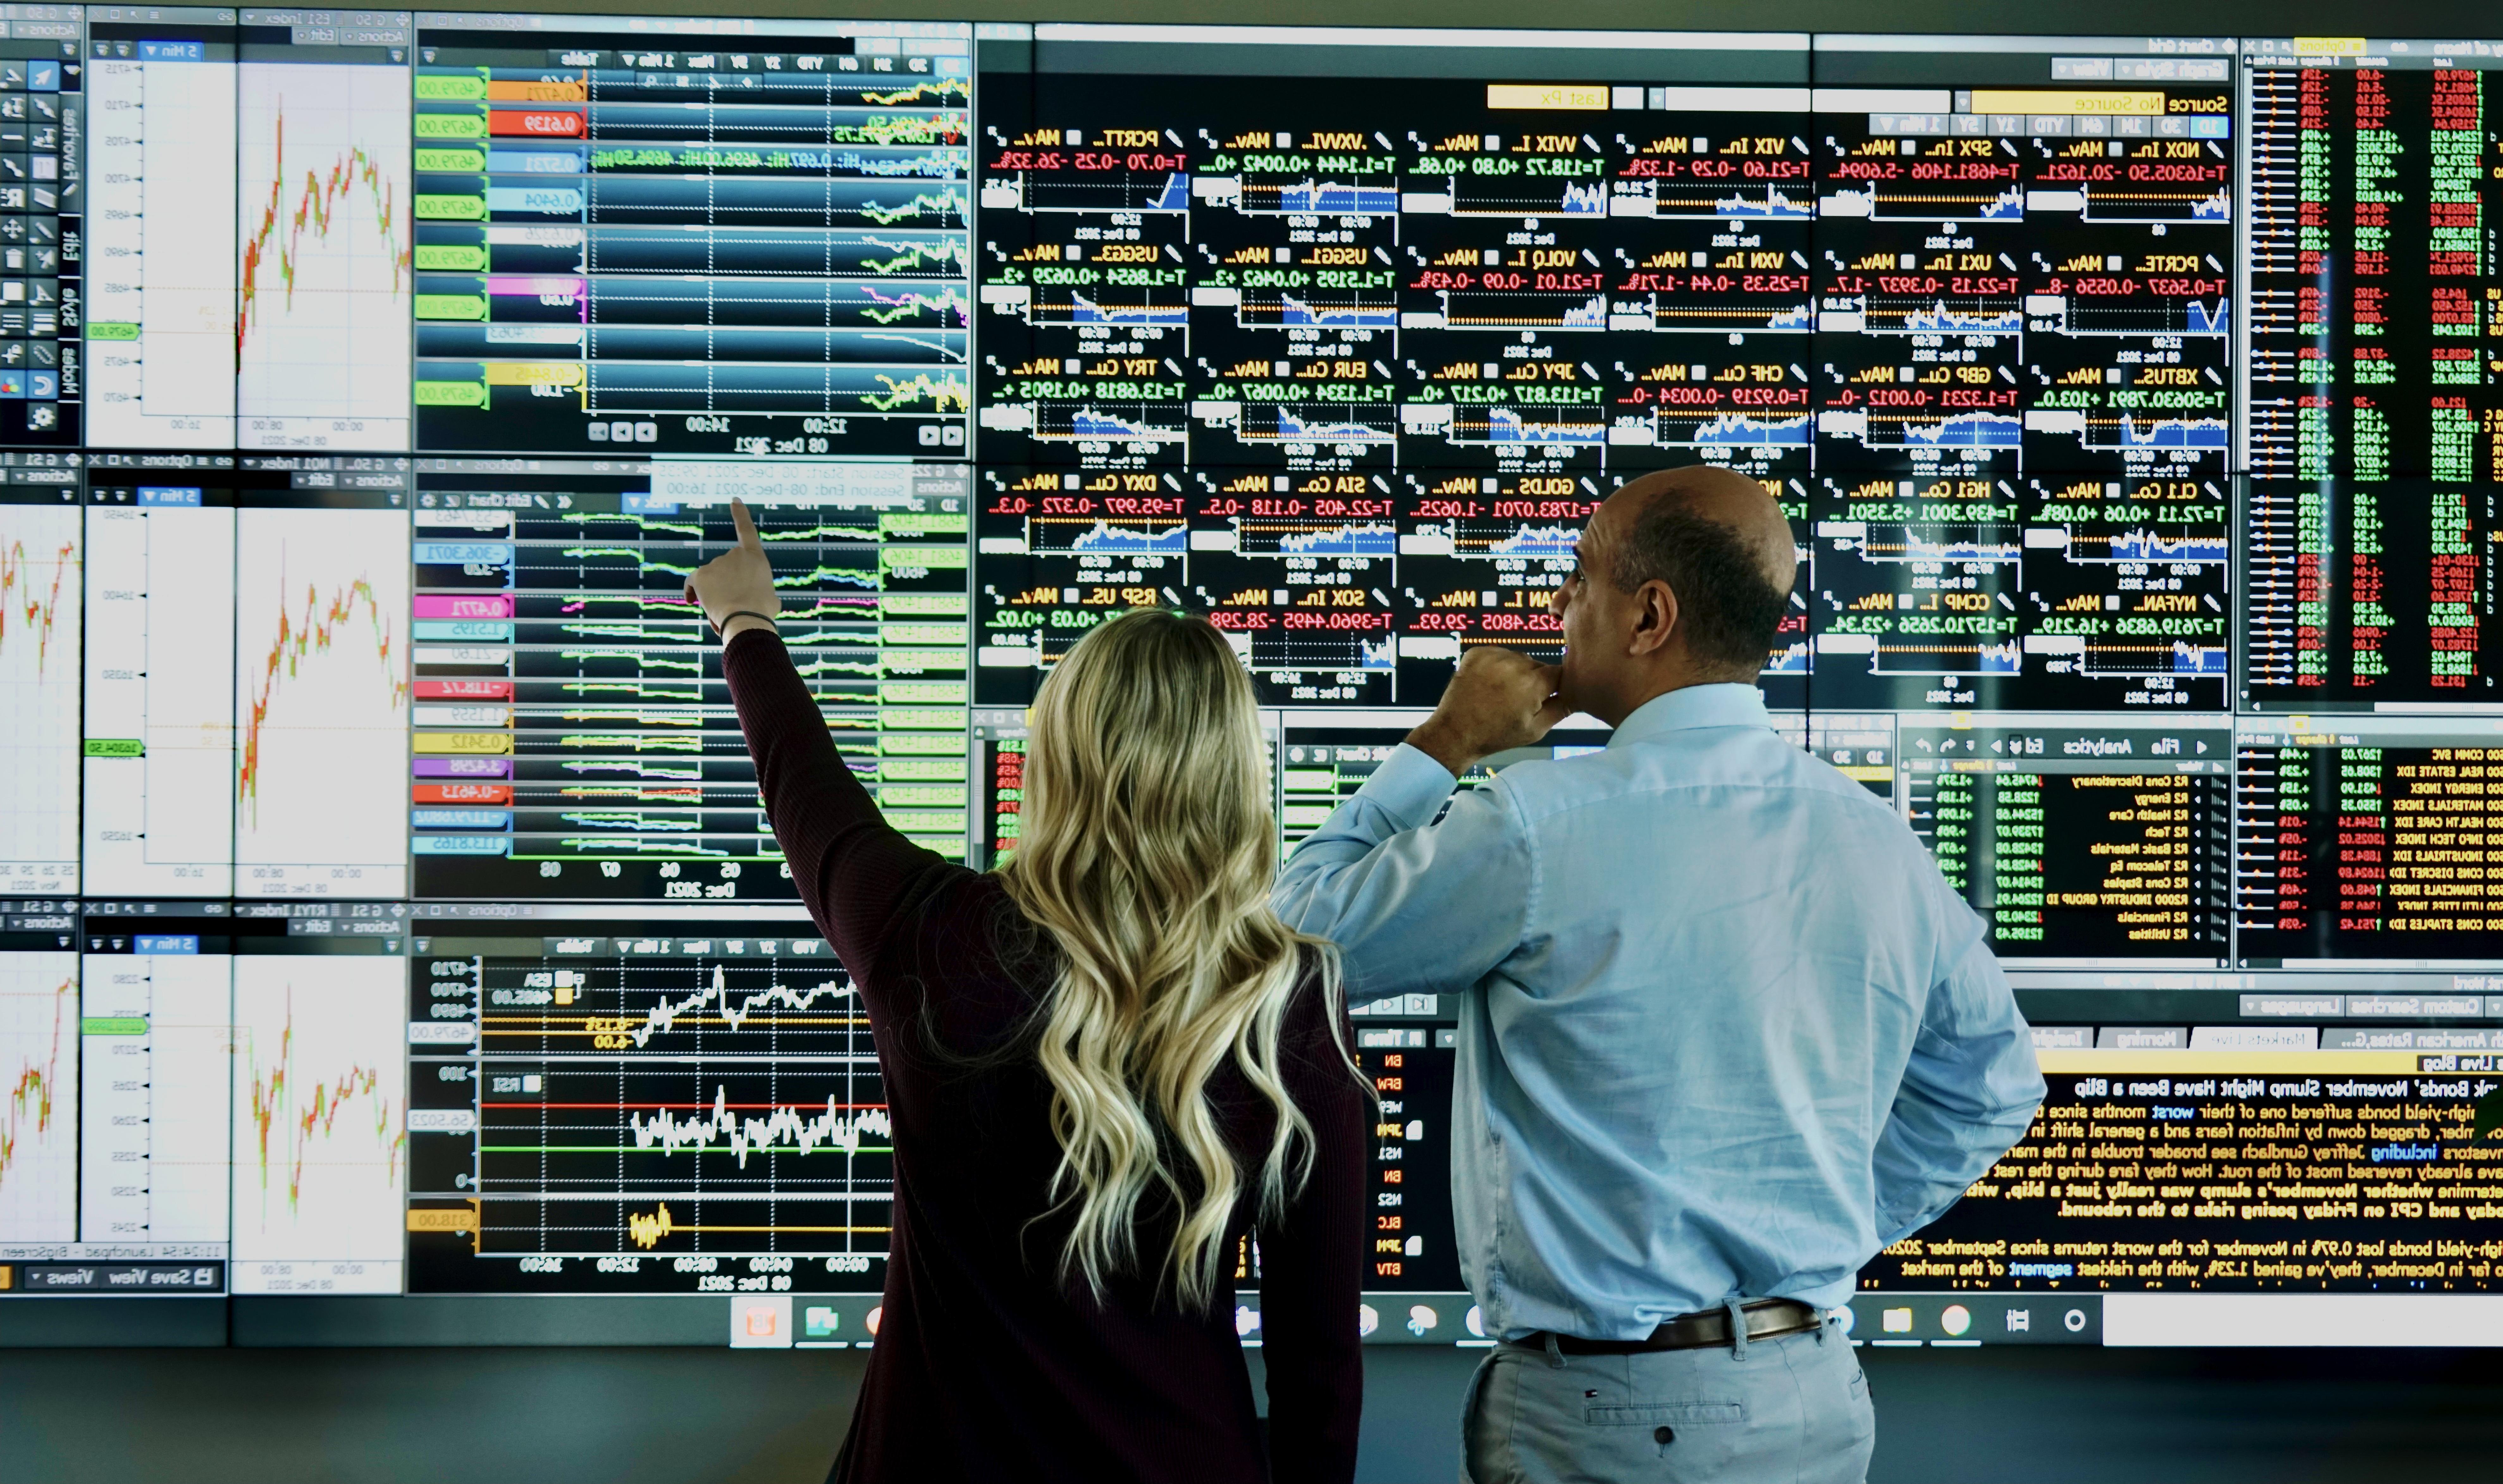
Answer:
[[[1840,1306],[2042,1101],[1982,921],[1885,803],[1690,686],[1452,798],[1402,746],[1277,908],[1349,996],[1459,994],[1452,1214],[1487,1331]]]

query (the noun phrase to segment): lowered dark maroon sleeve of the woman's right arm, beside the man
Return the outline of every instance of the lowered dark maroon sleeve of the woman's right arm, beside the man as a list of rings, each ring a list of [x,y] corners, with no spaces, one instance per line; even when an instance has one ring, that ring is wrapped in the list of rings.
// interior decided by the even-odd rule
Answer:
[[[1347,1484],[1357,1476],[1357,1421],[1364,1414],[1364,1351],[1357,1301],[1364,1286],[1364,1084],[1339,1046],[1354,1034],[1327,1011],[1299,1016],[1297,1076],[1289,1089],[1312,1121],[1312,1174],[1277,1221],[1264,1221],[1262,1359],[1269,1371],[1269,1476]]]

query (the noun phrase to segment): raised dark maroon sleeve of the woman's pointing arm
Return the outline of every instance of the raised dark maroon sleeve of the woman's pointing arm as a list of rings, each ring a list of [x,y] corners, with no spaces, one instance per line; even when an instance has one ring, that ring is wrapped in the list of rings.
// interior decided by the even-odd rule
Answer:
[[[971,876],[936,851],[906,841],[879,801],[851,776],[778,633],[731,636],[721,671],[738,706],[738,728],[756,758],[756,793],[791,863],[808,916],[844,958],[864,999],[894,933],[934,893]],[[871,1001],[871,1009],[881,1009]]]

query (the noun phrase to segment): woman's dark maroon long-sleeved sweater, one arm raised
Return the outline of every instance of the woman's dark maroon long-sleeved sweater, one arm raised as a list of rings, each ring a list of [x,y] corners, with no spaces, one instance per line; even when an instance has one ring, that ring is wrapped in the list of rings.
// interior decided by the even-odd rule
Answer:
[[[886,826],[781,638],[738,633],[723,668],[791,878],[869,1009],[894,1119],[886,1314],[833,1479],[1352,1479],[1367,1109],[1317,981],[1289,1006],[1282,1044],[1287,1089],[1314,1129],[1312,1179],[1257,1234],[1264,1461],[1231,1284],[1206,1311],[1181,1314],[1146,1279],[1109,1284],[1101,1304],[1056,1279],[1069,1224],[1036,1221],[1061,1159],[1051,1084],[1019,1039],[1051,986],[1049,933],[994,876]],[[1257,1169],[1269,1104],[1231,1061],[1209,1096],[1236,1159]],[[1252,1226],[1244,1199],[1231,1231]],[[1164,1251],[1169,1234],[1161,1211],[1141,1251]]]

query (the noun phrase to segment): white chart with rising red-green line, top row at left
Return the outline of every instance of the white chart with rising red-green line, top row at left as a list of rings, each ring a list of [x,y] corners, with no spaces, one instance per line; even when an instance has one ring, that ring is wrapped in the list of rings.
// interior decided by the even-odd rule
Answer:
[[[408,88],[243,63],[235,378],[243,448],[408,448]]]

